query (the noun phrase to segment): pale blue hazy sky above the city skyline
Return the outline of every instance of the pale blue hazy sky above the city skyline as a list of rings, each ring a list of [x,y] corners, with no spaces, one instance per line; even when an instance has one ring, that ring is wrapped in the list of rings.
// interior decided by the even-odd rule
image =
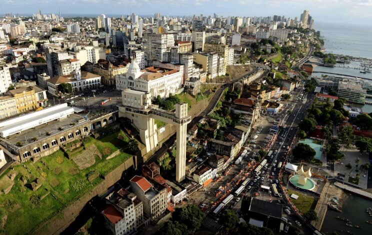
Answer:
[[[240,15],[299,17],[307,9],[315,23],[350,22],[372,25],[372,0],[0,0],[3,15],[8,12],[74,14],[153,15]]]

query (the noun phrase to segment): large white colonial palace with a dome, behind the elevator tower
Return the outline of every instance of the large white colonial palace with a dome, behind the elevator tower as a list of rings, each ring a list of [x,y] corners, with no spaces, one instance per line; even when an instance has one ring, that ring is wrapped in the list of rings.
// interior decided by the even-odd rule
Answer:
[[[183,71],[177,69],[147,67],[140,70],[138,64],[133,60],[129,64],[125,74],[118,74],[116,78],[116,89],[127,88],[151,93],[154,98],[168,97],[182,87]]]

